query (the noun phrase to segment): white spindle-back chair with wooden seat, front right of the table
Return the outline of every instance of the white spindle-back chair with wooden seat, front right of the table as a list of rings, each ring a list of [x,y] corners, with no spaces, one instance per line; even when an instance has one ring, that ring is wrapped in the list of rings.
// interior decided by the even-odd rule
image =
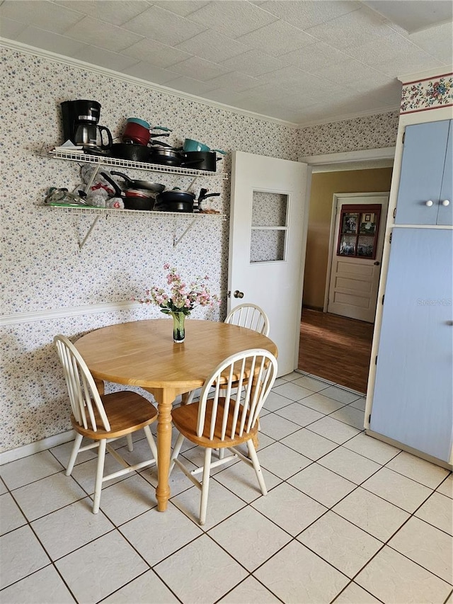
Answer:
[[[246,378],[248,373],[250,377]],[[220,384],[221,376],[226,383]],[[273,387],[277,376],[275,356],[263,349],[254,348],[231,355],[218,365],[202,387],[200,401],[182,405],[173,410],[173,425],[179,431],[170,473],[175,465],[201,490],[200,525],[205,524],[210,470],[239,457],[239,460],[253,467],[261,493],[266,495],[265,482],[261,472],[253,438],[258,431],[260,410]],[[210,392],[211,389],[214,392]],[[224,393],[224,396],[221,394]],[[208,397],[210,397],[208,399]],[[205,448],[202,467],[189,470],[180,462],[178,455],[184,438]],[[246,443],[248,457],[237,448]],[[212,449],[228,450],[225,455],[211,461]],[[196,474],[202,473],[202,480]]]

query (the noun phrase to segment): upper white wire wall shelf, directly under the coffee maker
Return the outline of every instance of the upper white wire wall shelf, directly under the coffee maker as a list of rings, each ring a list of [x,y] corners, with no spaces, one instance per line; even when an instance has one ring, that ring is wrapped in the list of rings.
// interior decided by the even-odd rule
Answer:
[[[149,172],[161,172],[168,174],[183,174],[185,176],[218,176],[222,180],[228,179],[226,172],[211,172],[207,170],[195,170],[192,168],[181,168],[178,166],[164,166],[163,164],[148,164],[145,161],[130,161],[130,159],[118,159],[104,155],[91,155],[88,153],[74,153],[70,151],[48,151],[47,154],[53,159],[69,159],[84,164],[102,164],[103,166],[117,166],[118,168],[133,168],[147,170]]]

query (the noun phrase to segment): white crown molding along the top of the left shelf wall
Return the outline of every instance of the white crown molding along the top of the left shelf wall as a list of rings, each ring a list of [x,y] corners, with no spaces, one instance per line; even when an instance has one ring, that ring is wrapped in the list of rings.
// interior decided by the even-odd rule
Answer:
[[[154,82],[143,80],[141,78],[137,78],[136,76],[130,76],[128,74],[123,74],[122,72],[115,72],[113,69],[108,69],[107,67],[100,67],[99,65],[80,61],[79,59],[73,59],[64,55],[58,55],[56,52],[50,52],[50,50],[42,50],[41,48],[36,48],[28,44],[23,44],[22,42],[16,42],[15,40],[9,40],[8,38],[0,38],[0,45],[6,48],[10,48],[11,50],[18,50],[19,52],[23,52],[26,55],[42,57],[43,59],[48,59],[55,63],[62,63],[64,65],[76,67],[77,69],[84,69],[85,71],[90,71],[95,74],[113,77],[115,79],[125,81],[129,84],[143,86],[144,88],[166,93],[171,96],[176,96],[178,98],[183,98],[188,101],[195,101],[196,103],[200,103],[201,105],[205,105],[208,107],[215,107],[224,111],[236,113],[238,115],[245,115],[246,117],[254,118],[256,120],[263,120],[265,122],[271,122],[280,126],[294,128],[294,130],[297,130],[299,128],[299,124],[294,122],[287,122],[286,120],[273,118],[270,115],[263,115],[261,113],[255,113],[253,111],[240,109],[231,105],[225,105],[224,103],[219,103],[218,101],[210,101],[210,99],[208,98],[203,98],[201,96],[196,96],[195,94],[181,92],[180,90],[168,88],[168,86],[164,86],[162,84],[154,84]]]

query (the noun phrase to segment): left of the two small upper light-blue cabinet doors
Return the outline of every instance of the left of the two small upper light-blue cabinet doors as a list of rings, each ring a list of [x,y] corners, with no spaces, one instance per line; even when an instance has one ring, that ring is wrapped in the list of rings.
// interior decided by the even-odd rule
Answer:
[[[395,224],[436,224],[450,121],[406,127]]]

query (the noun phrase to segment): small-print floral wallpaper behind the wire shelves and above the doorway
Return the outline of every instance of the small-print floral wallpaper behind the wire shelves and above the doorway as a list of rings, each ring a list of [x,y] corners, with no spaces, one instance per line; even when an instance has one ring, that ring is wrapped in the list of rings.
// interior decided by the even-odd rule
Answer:
[[[21,322],[24,313],[50,312],[90,304],[121,302],[142,295],[147,285],[164,285],[164,263],[187,278],[210,275],[223,300],[228,266],[228,220],[203,217],[173,246],[188,217],[101,217],[40,207],[50,186],[73,190],[81,183],[77,162],[49,159],[62,144],[62,101],[92,98],[101,103],[101,125],[118,137],[128,117],[172,129],[170,143],[195,138],[228,154],[218,170],[229,172],[231,151],[297,160],[301,154],[346,151],[393,144],[397,116],[348,120],[296,130],[276,122],[179,98],[107,74],[35,55],[2,49],[0,140],[2,256],[0,451],[67,431],[69,406],[52,348],[55,334],[71,339],[101,326],[159,316],[156,307],[132,307],[67,318]],[[219,166],[218,164],[218,166]],[[132,178],[143,171],[127,170]],[[166,186],[189,186],[192,178],[150,173]],[[159,178],[159,180],[158,180]],[[230,180],[199,178],[219,192],[211,207],[228,215]],[[226,303],[214,314],[196,309],[195,318],[223,320]],[[18,317],[15,321],[14,317]],[[13,317],[13,319],[11,319]],[[8,320],[6,320],[8,319]],[[113,386],[110,386],[112,388]]]

